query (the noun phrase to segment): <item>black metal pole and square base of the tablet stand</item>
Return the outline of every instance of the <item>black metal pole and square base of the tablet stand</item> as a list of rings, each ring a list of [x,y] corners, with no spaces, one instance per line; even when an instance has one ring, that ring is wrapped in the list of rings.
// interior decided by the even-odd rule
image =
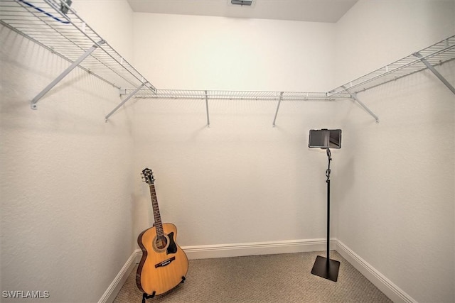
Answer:
[[[340,269],[340,262],[337,260],[330,259],[330,161],[331,152],[330,149],[326,149],[328,157],[328,169],[326,170],[327,177],[327,257],[321,257],[318,255],[316,261],[314,262],[313,269],[311,273],[313,275],[318,275],[327,280],[332,280],[336,282],[338,280],[338,270]]]

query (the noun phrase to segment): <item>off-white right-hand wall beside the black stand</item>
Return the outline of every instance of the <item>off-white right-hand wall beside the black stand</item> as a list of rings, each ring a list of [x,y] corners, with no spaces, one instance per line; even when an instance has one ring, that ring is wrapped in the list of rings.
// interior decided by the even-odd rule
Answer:
[[[338,84],[454,33],[454,1],[359,1],[337,23]],[[455,85],[454,62],[437,70]],[[380,123],[338,104],[337,238],[417,302],[454,302],[454,94],[426,70],[358,98]]]

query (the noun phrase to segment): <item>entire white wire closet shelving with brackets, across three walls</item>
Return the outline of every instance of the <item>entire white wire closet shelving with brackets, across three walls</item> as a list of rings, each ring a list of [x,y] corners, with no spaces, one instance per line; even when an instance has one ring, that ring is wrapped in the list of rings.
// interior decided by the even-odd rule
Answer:
[[[277,100],[273,125],[281,101],[354,99],[378,122],[378,116],[358,99],[357,93],[424,69],[431,70],[455,94],[453,85],[434,69],[435,65],[455,59],[455,35],[329,92],[252,92],[156,89],[63,0],[0,0],[0,23],[71,63],[67,70],[31,101],[32,109],[36,109],[36,103],[65,75],[75,67],[80,67],[119,89],[119,94],[124,97],[123,101],[105,116],[106,121],[130,98],[137,97],[205,99],[209,125],[208,99]]]

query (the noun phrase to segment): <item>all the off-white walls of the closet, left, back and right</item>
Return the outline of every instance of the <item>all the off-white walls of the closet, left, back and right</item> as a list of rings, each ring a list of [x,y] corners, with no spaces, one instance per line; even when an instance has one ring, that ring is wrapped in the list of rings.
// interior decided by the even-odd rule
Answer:
[[[76,9],[159,89],[317,92],[454,33],[451,1],[393,3],[336,25]],[[207,128],[203,100],[145,99],[105,123],[118,94],[80,70],[31,111],[68,63],[0,33],[2,290],[100,299],[153,221],[144,167],[181,246],[324,238],[327,160],[307,136],[341,127],[333,236],[418,302],[454,301],[454,103],[429,72],[359,94],[379,124],[350,101],[289,101],[272,128],[275,102],[211,100]]]

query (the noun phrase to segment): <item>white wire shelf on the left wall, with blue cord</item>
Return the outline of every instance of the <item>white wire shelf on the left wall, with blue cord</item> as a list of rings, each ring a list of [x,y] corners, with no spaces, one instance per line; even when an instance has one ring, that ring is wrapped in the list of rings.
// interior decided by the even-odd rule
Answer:
[[[119,89],[145,83],[156,90],[63,1],[1,0],[0,23],[72,63],[95,46],[78,65],[83,70]]]

